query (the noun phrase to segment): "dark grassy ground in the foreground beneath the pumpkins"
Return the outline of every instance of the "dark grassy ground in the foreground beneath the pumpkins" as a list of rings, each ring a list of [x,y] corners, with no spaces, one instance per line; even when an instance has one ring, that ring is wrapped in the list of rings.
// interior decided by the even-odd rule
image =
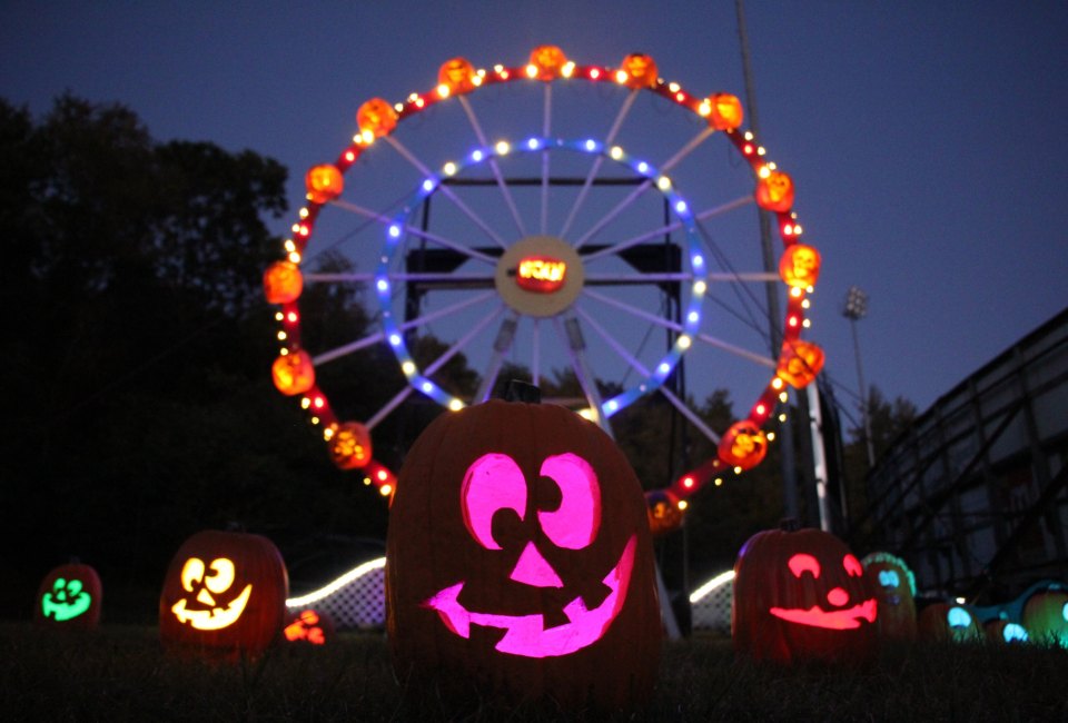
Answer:
[[[4,721],[567,721],[545,705],[471,701],[444,710],[393,679],[380,634],[287,647],[245,665],[165,655],[157,632],[105,626],[44,634],[0,623]],[[866,668],[783,668],[736,660],[730,641],[665,646],[661,681],[633,721],[1066,721],[1068,652],[917,646]]]

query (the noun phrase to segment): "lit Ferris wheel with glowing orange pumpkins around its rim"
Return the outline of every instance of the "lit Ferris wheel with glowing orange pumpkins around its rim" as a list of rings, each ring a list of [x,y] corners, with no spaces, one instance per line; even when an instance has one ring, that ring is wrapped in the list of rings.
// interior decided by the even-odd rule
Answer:
[[[759,464],[777,407],[822,366],[801,339],[820,256],[801,240],[792,179],[742,122],[735,96],[692,95],[649,56],[578,65],[554,46],[520,66],[454,58],[426,92],[363,102],[352,141],[308,171],[285,256],[265,273],[275,385],[308,409],[335,463],[384,495],[395,479],[372,437],[413,396],[458,410],[512,365],[536,386],[573,379],[578,394],[555,400],[611,434],[614,415],[659,394],[719,450],[654,495],[671,526],[690,494]],[[778,273],[763,268],[753,206],[778,219]],[[308,263],[325,250],[350,264]],[[756,300],[768,284],[785,289],[778,354]],[[312,348],[301,296],[319,285],[367,289],[373,330]],[[415,351],[423,335],[444,345],[434,358]],[[367,418],[339,419],[316,369],[370,347],[406,385]],[[479,374],[473,395],[443,378],[457,355]],[[748,385],[748,414],[711,428],[670,383],[683,358],[691,376]]]

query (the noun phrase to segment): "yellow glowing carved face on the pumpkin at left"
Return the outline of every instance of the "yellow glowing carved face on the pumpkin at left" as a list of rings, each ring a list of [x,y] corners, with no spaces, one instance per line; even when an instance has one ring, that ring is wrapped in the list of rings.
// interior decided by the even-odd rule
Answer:
[[[205,564],[199,557],[190,557],[181,566],[181,587],[189,597],[180,598],[170,612],[178,622],[197,630],[222,630],[233,625],[245,612],[253,594],[251,584],[231,591],[234,576],[231,559],[216,557]]]

